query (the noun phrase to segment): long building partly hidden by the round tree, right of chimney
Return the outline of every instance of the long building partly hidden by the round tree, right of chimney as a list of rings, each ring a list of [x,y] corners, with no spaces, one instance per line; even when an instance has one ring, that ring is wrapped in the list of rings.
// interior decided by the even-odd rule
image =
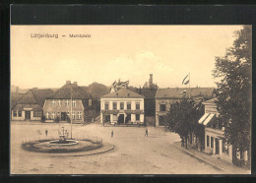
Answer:
[[[170,105],[184,97],[212,98],[215,97],[214,88],[168,88],[159,89],[156,93],[156,127],[164,126],[164,115],[170,110]]]

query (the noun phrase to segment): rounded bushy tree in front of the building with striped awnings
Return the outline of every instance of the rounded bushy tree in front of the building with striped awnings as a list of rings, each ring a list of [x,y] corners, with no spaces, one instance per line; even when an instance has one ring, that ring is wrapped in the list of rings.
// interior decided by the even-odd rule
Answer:
[[[202,103],[197,104],[191,99],[184,98],[180,102],[171,104],[170,108],[164,117],[165,129],[177,133],[182,140],[185,140],[187,149],[188,135],[191,132],[202,133],[198,130],[198,120],[203,114]]]

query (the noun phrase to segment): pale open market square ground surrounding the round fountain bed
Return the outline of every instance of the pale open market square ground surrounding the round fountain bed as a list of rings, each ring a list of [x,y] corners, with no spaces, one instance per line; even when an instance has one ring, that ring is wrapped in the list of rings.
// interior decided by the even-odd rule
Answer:
[[[66,129],[70,125],[66,124]],[[224,170],[178,150],[178,135],[149,127],[103,127],[98,123],[73,125],[73,137],[97,136],[115,150],[89,156],[58,156],[21,149],[23,141],[57,136],[60,124],[11,123],[12,174],[225,174]],[[113,130],[113,138],[111,131]]]

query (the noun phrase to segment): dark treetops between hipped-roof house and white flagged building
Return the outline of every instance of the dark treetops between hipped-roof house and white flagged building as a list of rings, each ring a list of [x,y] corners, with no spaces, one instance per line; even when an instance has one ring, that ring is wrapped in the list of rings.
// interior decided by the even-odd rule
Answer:
[[[109,93],[110,87],[106,87],[102,84],[93,83],[88,87],[82,87],[85,91],[87,91],[88,94],[92,94],[93,97],[99,98],[102,95]]]

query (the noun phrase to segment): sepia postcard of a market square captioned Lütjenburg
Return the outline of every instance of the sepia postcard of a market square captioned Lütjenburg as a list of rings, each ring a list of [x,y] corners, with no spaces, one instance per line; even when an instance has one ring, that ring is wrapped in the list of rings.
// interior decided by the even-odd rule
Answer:
[[[251,173],[250,25],[10,36],[12,175]]]

